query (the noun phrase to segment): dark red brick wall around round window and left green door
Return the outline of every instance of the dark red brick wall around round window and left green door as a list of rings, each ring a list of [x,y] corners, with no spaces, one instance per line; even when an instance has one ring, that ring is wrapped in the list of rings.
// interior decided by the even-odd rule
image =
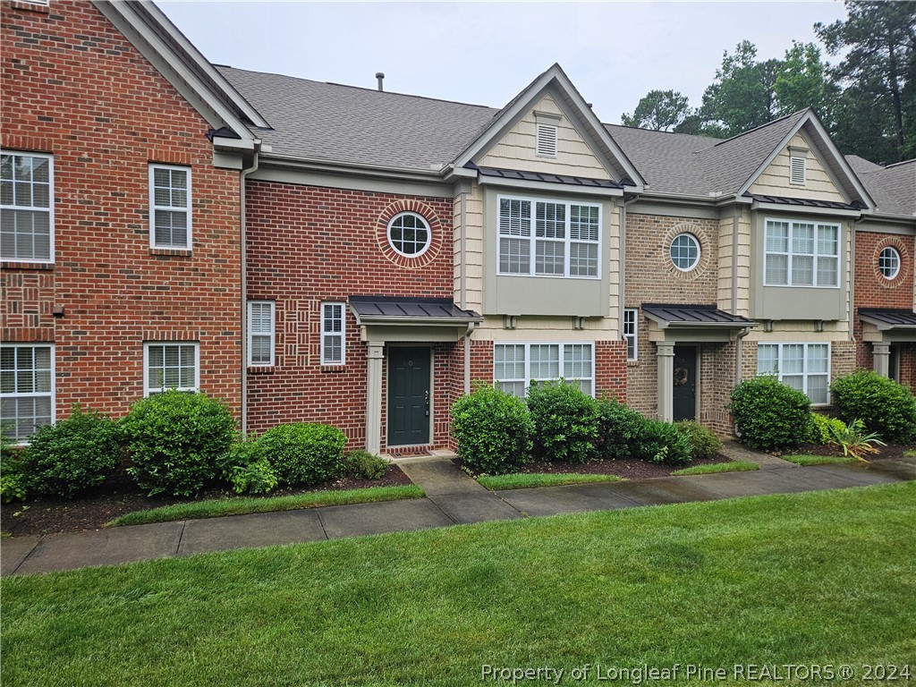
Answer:
[[[248,298],[276,301],[276,365],[249,375],[248,427],[327,422],[354,446],[365,444],[366,346],[346,315],[345,365],[322,367],[320,305],[352,295],[452,298],[451,199],[346,191],[249,181],[246,190]],[[431,224],[432,244],[416,260],[387,246],[387,221],[411,210]],[[456,336],[457,342],[457,336]],[[421,344],[419,342],[418,344]],[[463,379],[456,344],[433,347],[433,439],[448,445],[455,376]],[[387,365],[383,365],[385,446]]]

